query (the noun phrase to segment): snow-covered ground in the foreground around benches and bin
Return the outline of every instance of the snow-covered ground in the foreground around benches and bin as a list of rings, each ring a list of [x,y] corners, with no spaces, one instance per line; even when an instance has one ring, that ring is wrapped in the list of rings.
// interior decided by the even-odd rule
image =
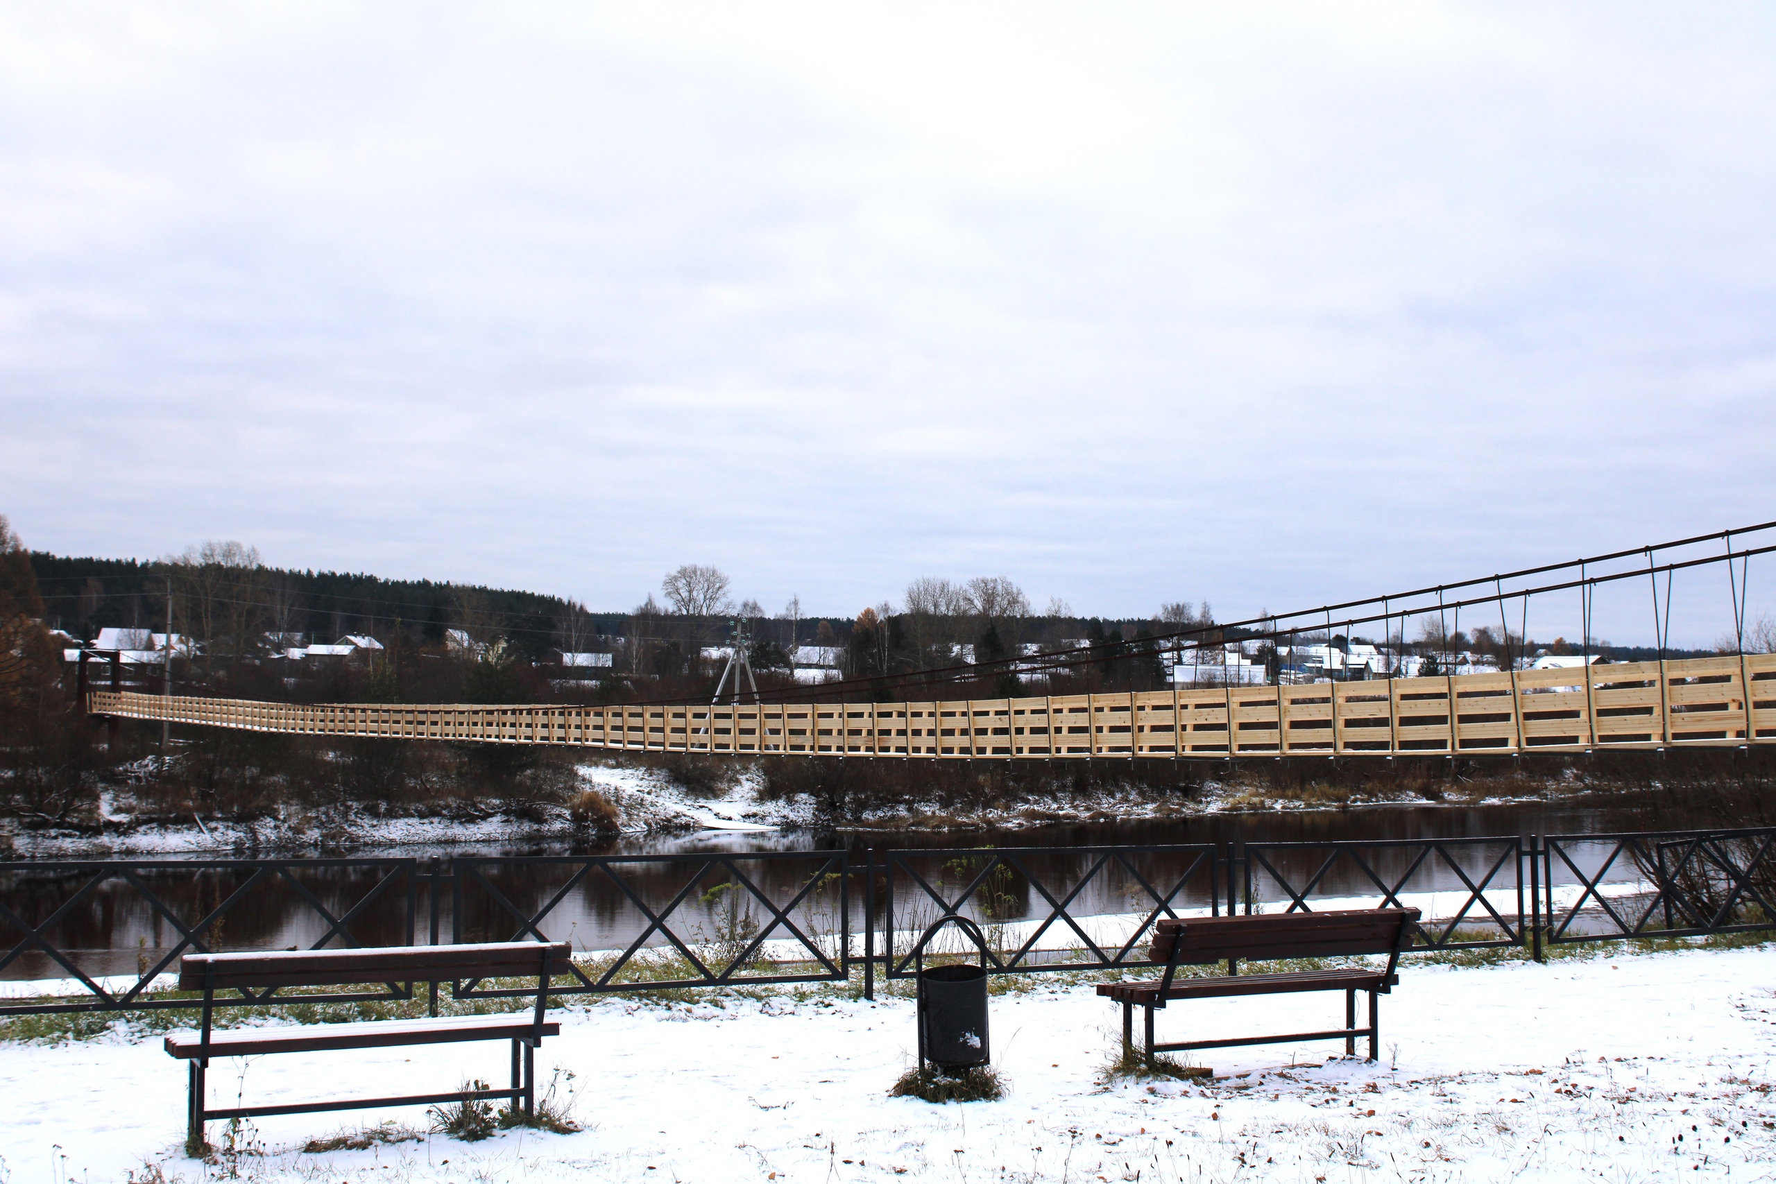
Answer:
[[[1000,1102],[886,1095],[913,1056],[904,999],[602,999],[540,1054],[575,1074],[579,1134],[439,1134],[361,1152],[304,1141],[417,1108],[258,1124],[250,1179],[366,1180],[1604,1180],[1776,1175],[1776,948],[1483,969],[1412,967],[1378,1065],[1336,1044],[1224,1049],[1202,1086],[1112,1083],[1115,1012],[1090,987],[993,999]],[[1227,999],[1167,1033],[1325,1026],[1337,996]],[[1295,1067],[1291,1067],[1291,1063]],[[503,1046],[218,1062],[213,1097],[259,1102],[497,1079]],[[227,1175],[185,1159],[183,1065],[158,1038],[0,1046],[0,1180]],[[211,1140],[222,1124],[213,1124]]]

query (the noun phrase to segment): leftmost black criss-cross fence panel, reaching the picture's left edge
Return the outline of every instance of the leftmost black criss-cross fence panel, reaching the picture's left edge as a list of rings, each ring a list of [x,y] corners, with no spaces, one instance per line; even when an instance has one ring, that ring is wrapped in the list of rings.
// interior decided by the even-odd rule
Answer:
[[[78,998],[0,999],[0,1015],[192,1006],[149,992],[183,953],[414,941],[414,859],[105,859],[0,863],[0,978],[73,982]],[[133,946],[112,948],[119,930]],[[101,944],[103,943],[103,944]],[[240,1003],[265,1001],[240,992]],[[408,998],[336,992],[334,1001]]]

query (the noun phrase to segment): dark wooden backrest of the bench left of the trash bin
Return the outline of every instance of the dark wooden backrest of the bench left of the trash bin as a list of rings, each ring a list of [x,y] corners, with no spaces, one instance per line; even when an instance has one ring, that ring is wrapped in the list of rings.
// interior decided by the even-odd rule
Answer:
[[[442,978],[520,978],[542,973],[549,950],[554,964],[572,957],[565,941],[501,941],[456,946],[364,946],[350,950],[247,950],[188,953],[179,959],[179,989],[202,991],[213,967],[215,987],[339,987],[368,982]]]

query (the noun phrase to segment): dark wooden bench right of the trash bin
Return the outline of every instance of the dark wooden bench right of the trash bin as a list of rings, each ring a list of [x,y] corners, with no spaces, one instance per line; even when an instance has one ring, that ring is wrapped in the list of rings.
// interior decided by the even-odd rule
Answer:
[[[1399,955],[1412,943],[1419,921],[1417,909],[1353,909],[1343,912],[1266,912],[1254,916],[1211,916],[1188,921],[1163,920],[1154,925],[1147,957],[1165,966],[1154,982],[1103,983],[1098,994],[1122,1005],[1122,1047],[1133,1044],[1135,1008],[1147,1010],[1147,1063],[1154,1053],[1186,1049],[1224,1049],[1245,1044],[1280,1044],[1286,1040],[1344,1038],[1344,1053],[1357,1053],[1357,1037],[1369,1037],[1369,1060],[1376,1058],[1380,1019],[1376,996],[1399,982]],[[1350,967],[1295,971],[1286,975],[1240,975],[1240,962],[1270,959],[1325,959],[1339,955],[1385,953],[1387,969]],[[1225,976],[1177,978],[1179,966],[1227,962]],[[1172,999],[1224,999],[1247,994],[1289,994],[1298,991],[1343,991],[1344,1026],[1332,1031],[1295,1031],[1280,1037],[1240,1037],[1234,1040],[1183,1040],[1154,1044],[1153,1014]],[[1369,1024],[1357,1026],[1357,992],[1369,996]]]

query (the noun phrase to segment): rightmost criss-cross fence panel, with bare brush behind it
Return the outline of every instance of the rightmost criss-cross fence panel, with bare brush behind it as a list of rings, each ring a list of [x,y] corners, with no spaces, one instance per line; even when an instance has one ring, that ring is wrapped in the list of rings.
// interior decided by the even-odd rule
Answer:
[[[1776,925],[1776,829],[1549,834],[1549,941],[1684,937]],[[1554,877],[1566,884],[1556,888]]]

